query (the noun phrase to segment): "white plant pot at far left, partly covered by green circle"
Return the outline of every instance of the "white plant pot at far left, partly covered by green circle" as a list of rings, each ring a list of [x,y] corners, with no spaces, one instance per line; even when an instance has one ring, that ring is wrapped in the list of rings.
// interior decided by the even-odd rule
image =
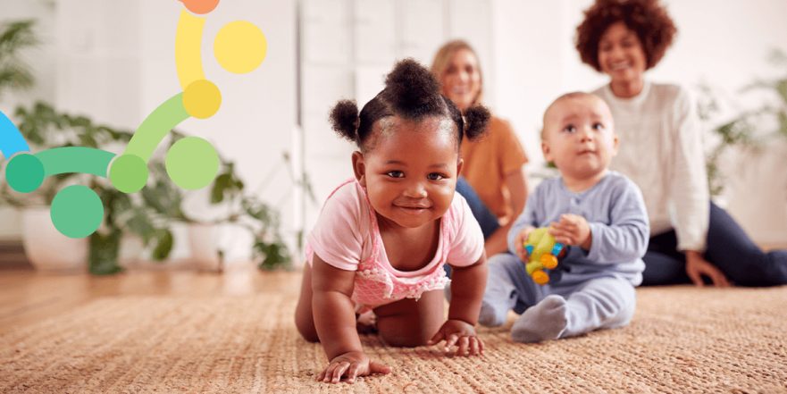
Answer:
[[[88,269],[88,238],[72,239],[54,228],[49,207],[21,211],[25,254],[41,272],[81,273]]]

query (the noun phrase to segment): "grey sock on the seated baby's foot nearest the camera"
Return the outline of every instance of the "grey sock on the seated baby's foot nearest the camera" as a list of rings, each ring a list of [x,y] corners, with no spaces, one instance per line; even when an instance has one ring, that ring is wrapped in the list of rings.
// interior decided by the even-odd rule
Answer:
[[[511,338],[517,342],[557,340],[568,324],[565,298],[555,294],[529,307],[511,327]]]

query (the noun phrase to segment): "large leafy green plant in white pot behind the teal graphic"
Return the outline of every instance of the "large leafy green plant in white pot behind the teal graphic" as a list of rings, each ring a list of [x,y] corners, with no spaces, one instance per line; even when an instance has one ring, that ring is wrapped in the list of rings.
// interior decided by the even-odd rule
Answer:
[[[128,130],[96,125],[84,116],[59,113],[51,105],[42,102],[29,108],[19,107],[14,118],[33,152],[73,146],[116,149],[125,146],[132,136]],[[163,167],[163,163],[155,159],[151,167]],[[124,234],[138,236],[144,245],[152,246],[152,257],[156,260],[166,258],[172,249],[172,231],[165,221],[157,221],[156,218],[177,217],[177,211],[169,210],[170,206],[167,206],[166,202],[174,199],[175,202],[170,204],[180,205],[180,195],[178,189],[157,177],[157,173],[153,171],[151,187],[141,198],[117,191],[103,178],[65,173],[48,177],[36,191],[26,194],[13,191],[3,181],[0,185],[0,201],[21,209],[22,239],[34,264],[55,264],[61,269],[65,269],[66,265],[80,264],[80,260],[81,264],[84,264],[85,256],[78,251],[78,245],[85,245],[90,272],[115,273],[121,271],[118,256]],[[54,231],[49,222],[49,205],[52,204],[54,195],[66,185],[75,183],[96,191],[105,205],[102,226],[87,240],[68,239]],[[155,201],[155,204],[151,204],[151,201]],[[72,252],[58,252],[56,247],[52,247],[53,242],[58,242]],[[63,259],[67,259],[69,263],[63,262]],[[57,264],[58,261],[61,263]]]

